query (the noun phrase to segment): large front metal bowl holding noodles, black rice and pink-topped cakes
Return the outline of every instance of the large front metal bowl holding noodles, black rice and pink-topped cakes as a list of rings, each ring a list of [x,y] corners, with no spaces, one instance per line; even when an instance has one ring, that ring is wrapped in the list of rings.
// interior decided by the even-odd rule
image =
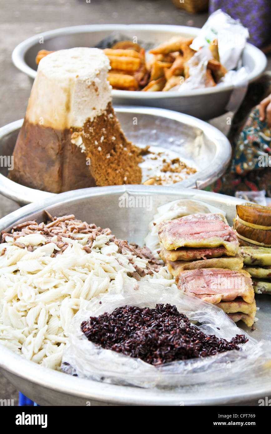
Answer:
[[[151,196],[152,210],[150,208],[119,207],[119,198],[125,193],[133,197]],[[36,219],[41,222],[44,218],[43,210],[46,209],[54,216],[75,214],[77,218],[89,223],[110,227],[112,233],[117,237],[142,245],[148,232],[149,221],[152,220],[156,208],[180,198],[200,200],[220,207],[226,212],[230,224],[235,216],[236,204],[241,203],[241,200],[235,197],[173,187],[145,185],[94,187],[69,191],[45,201],[26,205],[3,217],[0,220],[0,231],[11,229],[15,224],[26,220]],[[268,296],[262,295],[258,296],[256,301],[260,310],[257,312],[259,320],[257,330],[253,332],[253,338],[271,340],[270,300]],[[246,331],[250,334],[248,328]],[[215,388],[210,383],[208,393],[206,393],[206,388],[201,388],[200,385],[178,390],[110,385],[43,368],[16,355],[2,345],[0,345],[0,371],[23,394],[41,405],[86,405],[86,401],[90,401],[91,405],[180,405],[180,402],[183,402],[185,406],[218,405],[259,399],[271,393],[271,377],[264,379],[257,370],[255,370],[254,378],[248,376],[245,382],[241,385],[236,384],[234,387],[223,384]]]

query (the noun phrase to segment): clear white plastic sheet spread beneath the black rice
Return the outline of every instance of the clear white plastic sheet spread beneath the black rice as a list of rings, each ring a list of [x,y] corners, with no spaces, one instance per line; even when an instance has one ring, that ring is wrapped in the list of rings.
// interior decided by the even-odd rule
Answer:
[[[100,304],[100,302],[102,304]],[[171,362],[152,366],[139,358],[132,358],[108,349],[99,348],[81,332],[80,324],[90,316],[111,313],[117,307],[130,305],[154,308],[157,303],[175,305],[206,334],[231,340],[244,334],[225,313],[209,303],[188,296],[178,289],[155,283],[140,282],[124,287],[117,293],[101,294],[89,301],[74,316],[69,329],[69,343],[63,354],[62,369],[71,375],[104,381],[117,385],[134,385],[143,388],[202,385],[248,378],[255,372],[264,374],[271,361],[271,343],[249,341],[241,350],[232,350],[212,357]]]

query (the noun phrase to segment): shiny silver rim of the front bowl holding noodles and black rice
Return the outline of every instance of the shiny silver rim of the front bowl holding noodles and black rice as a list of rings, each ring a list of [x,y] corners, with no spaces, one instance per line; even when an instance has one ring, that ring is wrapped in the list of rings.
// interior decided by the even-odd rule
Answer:
[[[28,204],[13,213],[0,219],[0,230],[10,227],[21,218],[26,218],[28,215],[43,210],[44,208],[54,204],[65,204],[71,200],[83,200],[94,196],[107,196],[109,194],[166,194],[169,197],[176,195],[177,191],[173,187],[164,186],[145,186],[145,185],[127,185],[127,186],[110,186],[110,187],[93,187],[82,190],[69,191],[66,193],[55,195],[54,197],[40,200],[34,204]],[[191,198],[191,190],[188,188],[180,188],[178,193],[183,197]],[[225,203],[228,206],[235,206],[242,203],[241,199],[230,197],[222,194],[193,191],[193,198],[198,200],[213,200],[214,198],[219,203]],[[20,366],[20,375],[18,375],[18,366]],[[193,392],[182,391],[165,391],[158,389],[142,389],[130,386],[117,386],[97,381],[84,380],[66,375],[63,372],[56,372],[49,368],[43,368],[30,362],[20,355],[13,353],[11,350],[0,347],[0,370],[5,371],[3,374],[10,379],[10,375],[31,381],[41,389],[47,391],[55,391],[63,395],[73,396],[87,401],[107,402],[110,404],[121,405],[180,405],[180,401],[184,401],[185,405],[218,405],[235,403],[248,399],[257,399],[262,396],[268,396],[271,393],[271,379],[268,382],[257,385],[254,390],[251,390],[249,384],[238,387],[235,390],[227,388],[223,385],[223,395],[221,391],[215,391],[206,396],[206,392],[201,392],[195,395]],[[9,375],[10,374],[10,375]],[[64,377],[65,375],[65,377]],[[30,397],[31,398],[31,397]]]

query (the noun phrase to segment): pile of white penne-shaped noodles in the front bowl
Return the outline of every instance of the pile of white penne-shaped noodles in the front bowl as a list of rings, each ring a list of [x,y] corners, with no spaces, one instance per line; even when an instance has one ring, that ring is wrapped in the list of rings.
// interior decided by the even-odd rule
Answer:
[[[13,245],[6,237],[0,250],[0,342],[28,360],[60,369],[67,329],[81,304],[100,293],[121,290],[125,282],[136,279],[128,273],[135,266],[146,268],[147,260],[131,253],[118,253],[111,235],[99,235],[91,253],[83,250],[88,237],[74,234],[77,240],[65,238],[66,250],[59,250],[40,234],[30,234],[17,241],[31,244],[33,252]],[[145,275],[141,280],[155,280],[175,286],[166,267]]]

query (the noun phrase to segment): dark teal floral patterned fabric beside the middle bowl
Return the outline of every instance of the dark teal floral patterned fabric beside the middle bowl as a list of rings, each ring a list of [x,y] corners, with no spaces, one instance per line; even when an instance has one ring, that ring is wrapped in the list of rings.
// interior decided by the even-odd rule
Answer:
[[[268,162],[271,164],[271,129],[266,121],[259,120],[258,105],[252,107],[270,93],[270,73],[248,86],[228,135],[232,146],[231,163],[208,190],[230,196],[236,191],[265,190],[271,197],[271,167],[268,166]]]

